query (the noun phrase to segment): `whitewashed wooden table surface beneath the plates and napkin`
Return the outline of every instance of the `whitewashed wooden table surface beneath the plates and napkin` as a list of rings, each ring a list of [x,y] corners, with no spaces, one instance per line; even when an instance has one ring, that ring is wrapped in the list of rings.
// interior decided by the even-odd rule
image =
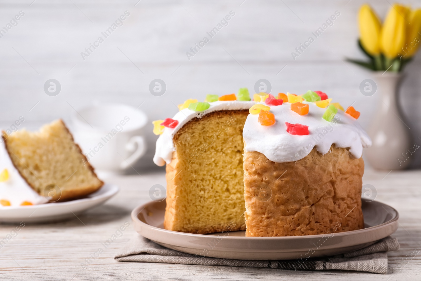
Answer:
[[[225,266],[173,265],[116,262],[113,257],[132,237],[130,212],[149,201],[149,188],[165,186],[163,173],[112,177],[120,192],[102,206],[66,222],[26,224],[18,236],[0,249],[1,280],[420,280],[421,279],[421,171],[390,174],[366,170],[364,184],[377,189],[378,201],[400,212],[400,225],[394,236],[400,249],[389,252],[386,275],[342,271],[292,271]],[[386,177],[385,177],[386,176]],[[117,228],[131,225],[97,258],[101,243]],[[15,225],[0,225],[0,240]],[[98,255],[97,255],[98,256]],[[91,258],[88,267],[82,263]],[[283,278],[283,279],[282,279]]]

